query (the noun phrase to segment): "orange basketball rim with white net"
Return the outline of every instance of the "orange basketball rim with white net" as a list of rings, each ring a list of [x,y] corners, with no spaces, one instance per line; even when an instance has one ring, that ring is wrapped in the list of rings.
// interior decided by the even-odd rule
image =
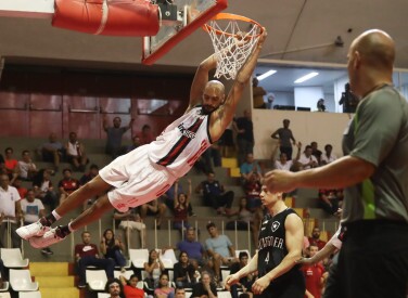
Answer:
[[[235,79],[264,31],[259,23],[237,14],[219,13],[203,29],[208,33],[217,59],[215,77]]]

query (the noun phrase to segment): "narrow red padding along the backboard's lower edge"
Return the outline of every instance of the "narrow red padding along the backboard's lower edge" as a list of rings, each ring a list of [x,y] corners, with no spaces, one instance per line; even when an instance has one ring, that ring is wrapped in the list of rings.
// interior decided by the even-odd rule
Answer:
[[[183,40],[186,37],[191,35],[193,31],[199,29],[202,25],[207,23],[209,20],[213,18],[217,13],[224,11],[228,7],[228,0],[218,0],[217,3],[208,9],[205,13],[203,13],[200,17],[195,18],[191,22],[188,26],[183,27],[178,31],[177,35],[173,36],[168,39],[160,49],[157,49],[154,53],[150,55],[144,55],[144,44],[142,44],[142,63],[144,65],[152,65],[158,59],[161,59],[164,54],[170,51],[177,43]],[[144,43],[144,39],[143,39]]]

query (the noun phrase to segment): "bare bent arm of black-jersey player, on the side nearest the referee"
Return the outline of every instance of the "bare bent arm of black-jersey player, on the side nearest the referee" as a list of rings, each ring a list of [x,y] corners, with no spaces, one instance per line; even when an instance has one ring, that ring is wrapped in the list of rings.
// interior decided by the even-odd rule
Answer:
[[[289,215],[284,222],[284,228],[288,255],[280,264],[266,274],[270,282],[290,271],[296,264],[295,261],[302,257],[304,235],[302,219],[295,213]]]

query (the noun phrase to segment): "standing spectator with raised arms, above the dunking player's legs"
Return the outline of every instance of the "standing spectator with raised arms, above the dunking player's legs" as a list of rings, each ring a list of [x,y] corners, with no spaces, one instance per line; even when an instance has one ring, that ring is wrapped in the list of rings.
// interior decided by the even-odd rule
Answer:
[[[125,153],[122,146],[122,138],[126,131],[131,129],[135,119],[132,118],[126,127],[120,127],[120,117],[113,118],[113,127],[107,125],[106,116],[103,119],[103,130],[106,132],[105,153],[111,155],[113,159]]]

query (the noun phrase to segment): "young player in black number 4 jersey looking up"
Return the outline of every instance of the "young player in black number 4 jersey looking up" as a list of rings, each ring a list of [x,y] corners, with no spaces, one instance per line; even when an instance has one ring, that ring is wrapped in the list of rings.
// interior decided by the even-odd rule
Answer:
[[[282,194],[272,194],[263,186],[260,199],[269,213],[262,222],[258,252],[247,265],[229,275],[226,283],[232,285],[242,276],[258,271],[258,280],[252,286],[256,297],[303,298],[305,281],[295,264],[302,256],[302,219],[284,204]]]

